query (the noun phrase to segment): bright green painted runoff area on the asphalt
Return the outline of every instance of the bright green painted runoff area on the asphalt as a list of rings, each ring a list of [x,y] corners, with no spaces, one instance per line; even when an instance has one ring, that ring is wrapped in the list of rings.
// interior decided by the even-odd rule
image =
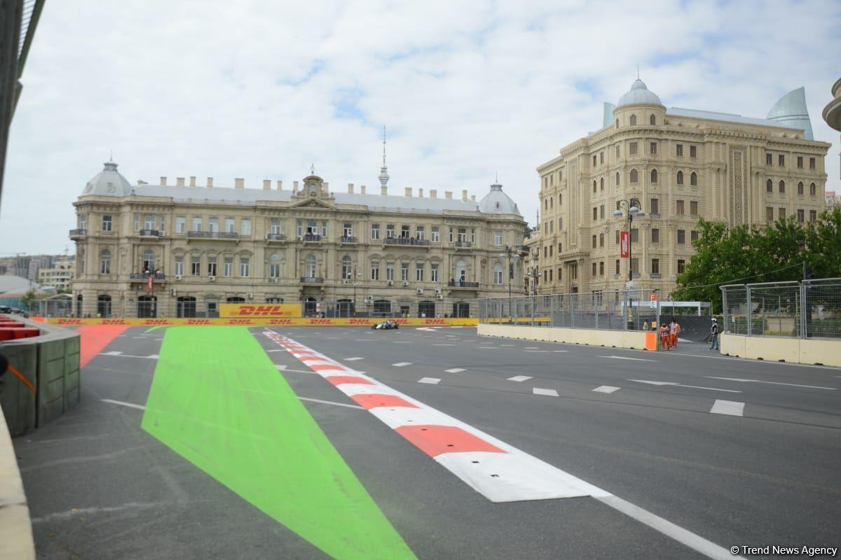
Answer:
[[[146,432],[335,558],[415,558],[246,327],[169,327]]]

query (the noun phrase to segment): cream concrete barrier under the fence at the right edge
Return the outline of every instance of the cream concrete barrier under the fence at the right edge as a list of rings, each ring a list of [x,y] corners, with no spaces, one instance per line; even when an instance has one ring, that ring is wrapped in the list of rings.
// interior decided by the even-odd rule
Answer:
[[[841,340],[745,337],[722,333],[721,347],[722,354],[727,356],[841,367]]]

